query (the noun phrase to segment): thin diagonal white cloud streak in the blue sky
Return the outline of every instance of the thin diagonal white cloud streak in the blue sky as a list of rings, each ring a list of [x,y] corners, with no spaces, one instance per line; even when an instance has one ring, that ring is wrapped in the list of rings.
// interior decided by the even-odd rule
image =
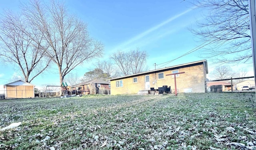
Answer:
[[[134,41],[137,41],[137,40],[143,38],[144,36],[150,34],[151,32],[154,32],[154,31],[158,30],[158,29],[161,28],[162,26],[164,26],[164,25],[166,25],[166,24],[172,22],[173,20],[179,18],[180,16],[183,16],[184,14],[190,12],[190,11],[193,10],[193,9],[194,9],[194,8],[190,8],[190,9],[188,9],[188,10],[186,10],[186,11],[180,13],[180,14],[177,14],[177,15],[175,15],[175,16],[169,18],[168,20],[166,20],[166,21],[164,21],[164,22],[162,22],[162,23],[160,23],[160,24],[158,24],[158,25],[156,25],[156,26],[150,28],[149,30],[146,30],[145,32],[142,32],[142,33],[139,34],[138,36],[135,36],[134,38],[131,38],[131,39],[129,39],[128,41],[126,41],[126,42],[124,42],[124,43],[118,45],[118,47],[116,47],[115,49],[120,49],[120,48],[125,47],[126,45],[128,45],[128,44],[130,44],[130,43],[133,43]]]

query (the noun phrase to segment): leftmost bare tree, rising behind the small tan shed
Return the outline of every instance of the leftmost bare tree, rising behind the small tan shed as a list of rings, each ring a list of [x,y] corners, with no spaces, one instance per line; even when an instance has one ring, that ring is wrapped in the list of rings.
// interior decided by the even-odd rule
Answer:
[[[0,59],[4,63],[18,66],[23,76],[22,80],[28,83],[42,73],[50,63],[50,59],[44,57],[45,53],[40,48],[42,37],[36,38],[34,42],[31,39],[34,36],[32,28],[23,16],[11,12],[3,14],[0,20]]]

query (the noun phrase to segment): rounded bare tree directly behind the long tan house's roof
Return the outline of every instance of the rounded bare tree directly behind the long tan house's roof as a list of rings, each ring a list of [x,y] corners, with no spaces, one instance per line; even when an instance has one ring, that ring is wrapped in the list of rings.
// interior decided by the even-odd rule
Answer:
[[[117,51],[110,58],[118,65],[123,75],[130,75],[144,71],[147,57],[146,51],[137,48],[128,52]]]

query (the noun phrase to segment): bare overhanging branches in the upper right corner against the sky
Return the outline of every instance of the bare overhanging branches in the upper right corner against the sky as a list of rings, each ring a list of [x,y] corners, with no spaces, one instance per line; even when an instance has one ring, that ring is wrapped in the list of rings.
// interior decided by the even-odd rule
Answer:
[[[251,63],[248,0],[193,0],[193,4],[208,10],[192,30],[210,47],[203,56],[220,63]]]

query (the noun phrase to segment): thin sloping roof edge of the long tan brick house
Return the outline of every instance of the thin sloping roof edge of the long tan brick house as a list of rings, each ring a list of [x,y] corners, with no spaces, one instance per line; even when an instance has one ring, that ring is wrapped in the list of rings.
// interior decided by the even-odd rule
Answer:
[[[191,63],[184,63],[184,64],[181,64],[181,65],[175,65],[175,66],[165,67],[165,68],[156,69],[156,70],[152,70],[152,71],[136,73],[136,74],[133,74],[133,75],[126,75],[126,76],[123,76],[123,77],[117,77],[117,78],[113,78],[113,79],[108,79],[107,81],[125,79],[125,78],[128,78],[128,77],[136,77],[138,75],[146,75],[146,74],[149,74],[149,73],[158,73],[158,72],[168,71],[168,70],[172,70],[172,69],[178,69],[178,68],[195,66],[195,65],[199,65],[199,64],[204,64],[205,65],[206,73],[208,74],[207,60],[204,59],[204,60],[201,60],[201,61],[194,61],[194,62],[191,62]]]

